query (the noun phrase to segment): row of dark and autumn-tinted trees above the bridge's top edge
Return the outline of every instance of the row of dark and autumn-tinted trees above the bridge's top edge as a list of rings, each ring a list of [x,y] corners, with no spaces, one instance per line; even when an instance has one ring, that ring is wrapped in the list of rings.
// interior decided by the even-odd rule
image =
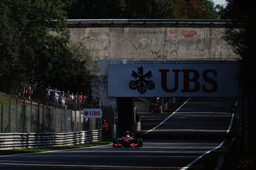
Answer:
[[[69,19],[219,19],[211,0],[75,0]]]

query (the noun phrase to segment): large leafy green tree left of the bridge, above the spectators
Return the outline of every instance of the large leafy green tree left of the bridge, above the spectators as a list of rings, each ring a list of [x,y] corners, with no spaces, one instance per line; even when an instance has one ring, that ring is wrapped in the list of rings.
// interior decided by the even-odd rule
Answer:
[[[90,57],[87,51],[81,63],[73,57],[65,11],[71,4],[68,0],[0,2],[1,76],[64,90],[73,81],[80,81],[79,88],[86,84],[85,64]]]

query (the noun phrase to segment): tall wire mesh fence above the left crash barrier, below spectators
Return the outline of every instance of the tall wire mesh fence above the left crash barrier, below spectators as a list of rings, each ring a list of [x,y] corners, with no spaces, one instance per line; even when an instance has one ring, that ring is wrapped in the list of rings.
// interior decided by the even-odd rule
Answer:
[[[99,129],[101,118],[83,118],[82,111],[0,104],[0,133],[69,133]]]

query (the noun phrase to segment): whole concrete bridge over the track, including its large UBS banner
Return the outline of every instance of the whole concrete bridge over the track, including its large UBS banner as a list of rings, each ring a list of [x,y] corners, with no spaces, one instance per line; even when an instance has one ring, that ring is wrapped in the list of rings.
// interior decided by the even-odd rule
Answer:
[[[133,122],[132,98],[136,96],[157,97],[158,92],[169,97],[236,96],[234,77],[238,67],[233,60],[240,56],[222,39],[225,23],[200,19],[85,19],[68,20],[68,28],[73,42],[89,37],[86,47],[92,55],[92,101],[104,103],[103,116],[108,122],[113,123],[116,114],[121,124],[122,119]],[[151,71],[146,80],[150,83],[140,86],[141,92],[134,90],[143,84],[135,78],[139,67],[144,74]],[[118,74],[125,70],[126,74]],[[129,84],[132,74],[137,84]],[[166,82],[176,79],[177,84]],[[233,92],[226,90],[230,87]]]

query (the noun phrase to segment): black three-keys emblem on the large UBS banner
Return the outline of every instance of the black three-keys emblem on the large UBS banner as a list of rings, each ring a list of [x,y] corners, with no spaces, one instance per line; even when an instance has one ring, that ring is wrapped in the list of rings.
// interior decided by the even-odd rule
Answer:
[[[152,75],[152,71],[148,71],[145,75],[143,73],[143,67],[138,67],[138,72],[132,71],[132,77],[135,80],[130,81],[129,88],[133,90],[138,90],[139,93],[144,94],[147,89],[152,90],[155,89],[155,83],[150,80]]]

